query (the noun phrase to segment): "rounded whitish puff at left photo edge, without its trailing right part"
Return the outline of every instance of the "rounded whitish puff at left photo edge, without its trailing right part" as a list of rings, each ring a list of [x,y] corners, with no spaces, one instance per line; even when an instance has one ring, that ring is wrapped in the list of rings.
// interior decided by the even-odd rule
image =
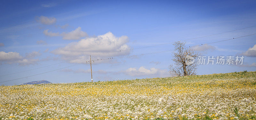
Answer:
[[[4,52],[0,51],[0,61],[15,61],[22,59],[22,56],[20,56],[20,53],[17,52]]]

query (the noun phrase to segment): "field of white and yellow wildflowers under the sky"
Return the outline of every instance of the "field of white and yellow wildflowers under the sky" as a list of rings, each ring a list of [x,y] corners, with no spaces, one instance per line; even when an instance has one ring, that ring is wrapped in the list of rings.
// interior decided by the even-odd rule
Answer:
[[[0,86],[0,119],[256,119],[256,72]]]

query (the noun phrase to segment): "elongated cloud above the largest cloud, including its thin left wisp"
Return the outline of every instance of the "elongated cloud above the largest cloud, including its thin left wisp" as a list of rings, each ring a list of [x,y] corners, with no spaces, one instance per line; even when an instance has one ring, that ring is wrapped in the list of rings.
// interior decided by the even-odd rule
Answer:
[[[48,32],[48,30],[44,30],[44,35],[46,36],[62,36],[63,40],[79,40],[81,37],[86,37],[87,33],[81,30],[81,27],[76,28],[76,30],[73,30],[71,32],[62,32],[61,34],[59,32]]]

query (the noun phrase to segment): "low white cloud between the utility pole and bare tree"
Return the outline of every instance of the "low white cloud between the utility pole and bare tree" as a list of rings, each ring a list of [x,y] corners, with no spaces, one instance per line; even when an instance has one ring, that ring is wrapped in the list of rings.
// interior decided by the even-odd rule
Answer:
[[[168,76],[167,70],[160,70],[156,68],[146,69],[143,66],[138,70],[136,68],[129,68],[123,71],[123,73],[129,76]]]

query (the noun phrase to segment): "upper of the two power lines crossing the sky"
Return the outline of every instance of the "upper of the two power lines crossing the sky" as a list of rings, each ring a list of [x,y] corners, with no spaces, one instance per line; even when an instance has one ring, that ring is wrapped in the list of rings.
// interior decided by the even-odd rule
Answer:
[[[243,30],[243,29],[247,29],[247,28],[251,28],[251,27],[255,27],[255,26],[256,26],[256,25],[250,26],[250,27],[246,27],[246,28],[236,29],[236,30]],[[232,32],[232,31],[236,31],[236,30],[221,32],[221,33],[212,34],[212,35],[208,35],[208,36],[202,36],[202,37],[214,36],[214,35],[223,34],[223,33],[227,33],[227,32]],[[186,40],[181,40],[181,41],[193,40],[193,39],[202,38],[202,37],[196,37],[196,38],[191,38],[191,39],[186,39]],[[171,42],[171,43],[174,43],[174,42]],[[163,44],[151,45],[151,46],[140,47],[140,48],[133,48],[133,49],[128,49],[128,50],[136,50],[136,49],[148,48],[148,47],[153,47],[153,46],[158,46],[158,45],[164,45],[164,44],[170,44],[170,43],[163,43]],[[119,51],[105,52],[105,53],[92,54],[92,55],[101,55],[101,54],[114,53],[114,52],[121,52],[121,51],[127,51],[127,50],[119,50]],[[92,55],[91,55],[91,56],[92,56]],[[90,56],[90,55],[88,55],[88,56]],[[72,61],[72,60],[76,60],[76,59],[80,59],[80,58],[88,57],[88,56],[82,56],[82,57],[78,57],[78,58],[71,59],[71,60],[68,60],[68,61]],[[68,62],[68,61],[64,61],[64,62],[60,62],[60,63],[66,63],[66,62]],[[30,70],[36,70],[36,69],[40,69],[40,68],[44,68],[44,67],[49,67],[49,66],[52,66],[52,65],[60,64],[60,63],[55,63],[55,64],[51,64],[51,65],[47,65],[47,66],[43,66],[43,67],[39,67],[39,68],[35,68],[35,69],[30,69]],[[2,75],[2,76],[17,74],[17,73],[21,73],[21,72],[30,71],[30,70],[20,71],[20,72],[11,73],[11,74],[6,74],[6,75]],[[0,76],[0,77],[2,77],[2,76]]]

